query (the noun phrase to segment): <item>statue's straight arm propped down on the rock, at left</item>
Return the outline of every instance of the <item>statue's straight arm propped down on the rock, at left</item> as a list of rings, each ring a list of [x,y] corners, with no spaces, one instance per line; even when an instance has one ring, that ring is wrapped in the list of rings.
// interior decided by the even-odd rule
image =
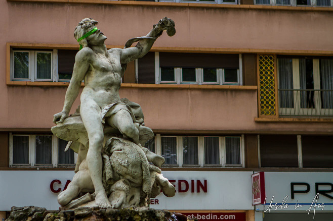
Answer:
[[[90,65],[90,58],[93,51],[89,47],[79,50],[75,56],[75,64],[73,75],[70,79],[69,86],[66,91],[64,107],[62,112],[53,116],[53,123],[61,123],[68,117],[70,108],[72,107],[80,90],[81,82],[85,78]]]

